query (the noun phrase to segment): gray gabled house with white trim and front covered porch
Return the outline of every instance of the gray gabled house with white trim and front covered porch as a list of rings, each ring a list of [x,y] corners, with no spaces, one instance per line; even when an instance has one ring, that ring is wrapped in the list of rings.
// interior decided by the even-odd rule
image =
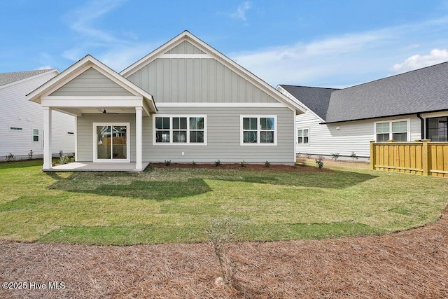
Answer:
[[[75,116],[77,162],[137,171],[165,160],[293,164],[304,112],[187,31],[120,74],[87,55],[28,97],[46,127],[52,110]],[[43,169],[52,169],[45,153]]]

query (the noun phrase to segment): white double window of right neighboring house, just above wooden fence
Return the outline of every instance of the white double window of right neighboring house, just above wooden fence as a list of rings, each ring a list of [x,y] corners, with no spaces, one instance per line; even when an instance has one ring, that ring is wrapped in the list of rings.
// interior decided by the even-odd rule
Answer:
[[[377,142],[409,141],[409,120],[388,120],[374,123]]]

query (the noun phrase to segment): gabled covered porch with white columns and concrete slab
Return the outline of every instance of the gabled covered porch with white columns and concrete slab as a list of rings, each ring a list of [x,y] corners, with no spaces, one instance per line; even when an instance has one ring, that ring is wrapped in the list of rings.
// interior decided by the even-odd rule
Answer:
[[[43,107],[43,171],[143,171],[143,118],[153,96],[87,55],[37,88]],[[52,110],[76,118],[75,163],[52,166]],[[146,118],[147,119],[147,118]]]

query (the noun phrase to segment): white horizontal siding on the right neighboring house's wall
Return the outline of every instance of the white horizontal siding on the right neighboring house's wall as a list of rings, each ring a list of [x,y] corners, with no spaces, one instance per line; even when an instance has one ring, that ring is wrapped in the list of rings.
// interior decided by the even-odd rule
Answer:
[[[421,121],[416,116],[395,116],[345,123],[321,124],[322,120],[307,111],[296,117],[296,128],[309,128],[309,145],[297,144],[297,153],[349,156],[354,152],[360,158],[370,157],[370,141],[374,140],[374,122],[409,118],[410,140],[421,139]],[[339,127],[339,130],[337,130]],[[295,141],[297,142],[297,140]]]

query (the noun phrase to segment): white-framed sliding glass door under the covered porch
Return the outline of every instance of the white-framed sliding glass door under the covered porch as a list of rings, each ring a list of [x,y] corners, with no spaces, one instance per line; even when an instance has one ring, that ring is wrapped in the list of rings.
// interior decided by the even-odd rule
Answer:
[[[95,160],[128,160],[127,131],[128,125],[95,125]]]

